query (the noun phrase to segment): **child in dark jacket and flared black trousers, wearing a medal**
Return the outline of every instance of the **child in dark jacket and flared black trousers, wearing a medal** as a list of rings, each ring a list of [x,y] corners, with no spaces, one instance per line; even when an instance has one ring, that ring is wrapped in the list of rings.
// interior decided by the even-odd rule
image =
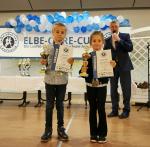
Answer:
[[[104,47],[104,37],[100,31],[95,31],[90,36],[90,45],[93,49],[93,52],[90,54],[84,53],[83,58],[87,58],[87,67],[82,66],[79,73],[86,72],[88,74],[85,77],[86,88],[87,88],[87,96],[90,106],[89,111],[89,123],[90,123],[90,141],[91,142],[99,142],[106,143],[107,136],[107,121],[106,121],[106,113],[105,113],[105,102],[106,102],[106,94],[107,94],[107,83],[108,78],[98,78],[94,79],[93,76],[93,61],[92,61],[92,53],[97,52]],[[115,62],[110,61],[110,64],[114,67]],[[96,85],[93,84],[93,81],[96,80],[98,83]],[[97,111],[98,118],[97,120]],[[98,122],[97,122],[98,121]]]

